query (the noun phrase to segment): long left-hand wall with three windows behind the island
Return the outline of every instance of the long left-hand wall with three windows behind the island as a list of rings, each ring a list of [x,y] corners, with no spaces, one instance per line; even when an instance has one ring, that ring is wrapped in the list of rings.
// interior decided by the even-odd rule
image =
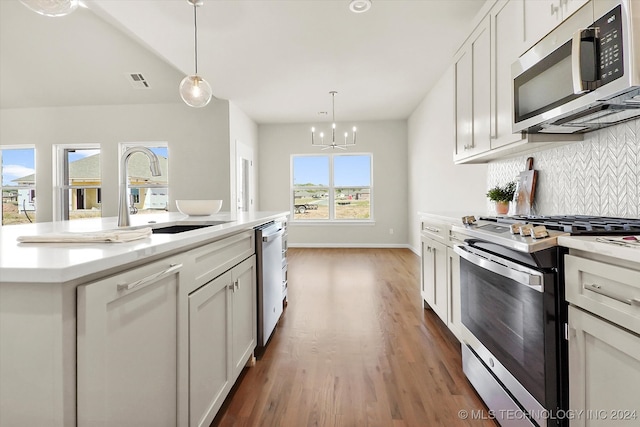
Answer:
[[[101,145],[106,217],[118,211],[118,143],[144,141],[169,144],[170,210],[175,199],[222,199],[230,206],[227,101],[201,109],[175,103],[0,110],[0,145],[36,146],[39,222],[53,218],[54,144]]]

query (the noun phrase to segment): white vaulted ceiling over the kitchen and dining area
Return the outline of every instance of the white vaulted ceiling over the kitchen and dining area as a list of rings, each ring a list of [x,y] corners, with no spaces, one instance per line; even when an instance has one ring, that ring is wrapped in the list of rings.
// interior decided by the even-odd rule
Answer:
[[[258,123],[405,119],[450,66],[483,0],[204,0],[198,71]],[[181,102],[186,0],[87,0],[61,18],[0,1],[0,108]],[[130,74],[150,89],[135,89]]]

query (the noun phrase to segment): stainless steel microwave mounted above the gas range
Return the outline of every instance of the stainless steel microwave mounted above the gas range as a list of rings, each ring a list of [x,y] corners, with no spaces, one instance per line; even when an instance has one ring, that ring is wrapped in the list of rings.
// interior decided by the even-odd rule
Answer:
[[[640,117],[640,0],[590,1],[511,71],[514,132],[583,133]]]

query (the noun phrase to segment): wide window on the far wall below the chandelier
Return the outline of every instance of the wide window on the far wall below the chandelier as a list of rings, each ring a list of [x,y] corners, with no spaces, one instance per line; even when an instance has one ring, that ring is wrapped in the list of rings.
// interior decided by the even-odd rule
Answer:
[[[369,221],[373,218],[371,154],[294,155],[294,220]]]

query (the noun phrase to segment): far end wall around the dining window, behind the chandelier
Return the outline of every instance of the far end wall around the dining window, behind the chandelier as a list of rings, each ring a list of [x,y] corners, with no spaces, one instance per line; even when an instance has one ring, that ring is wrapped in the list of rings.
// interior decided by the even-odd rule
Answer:
[[[318,123],[313,124],[318,127]],[[352,124],[337,123],[338,129]],[[296,224],[289,227],[291,246],[405,246],[407,243],[407,122],[362,122],[358,144],[349,152],[373,154],[374,225]],[[260,208],[290,209],[291,154],[322,153],[312,147],[312,124],[258,126],[260,140]],[[394,234],[389,234],[393,228]]]

